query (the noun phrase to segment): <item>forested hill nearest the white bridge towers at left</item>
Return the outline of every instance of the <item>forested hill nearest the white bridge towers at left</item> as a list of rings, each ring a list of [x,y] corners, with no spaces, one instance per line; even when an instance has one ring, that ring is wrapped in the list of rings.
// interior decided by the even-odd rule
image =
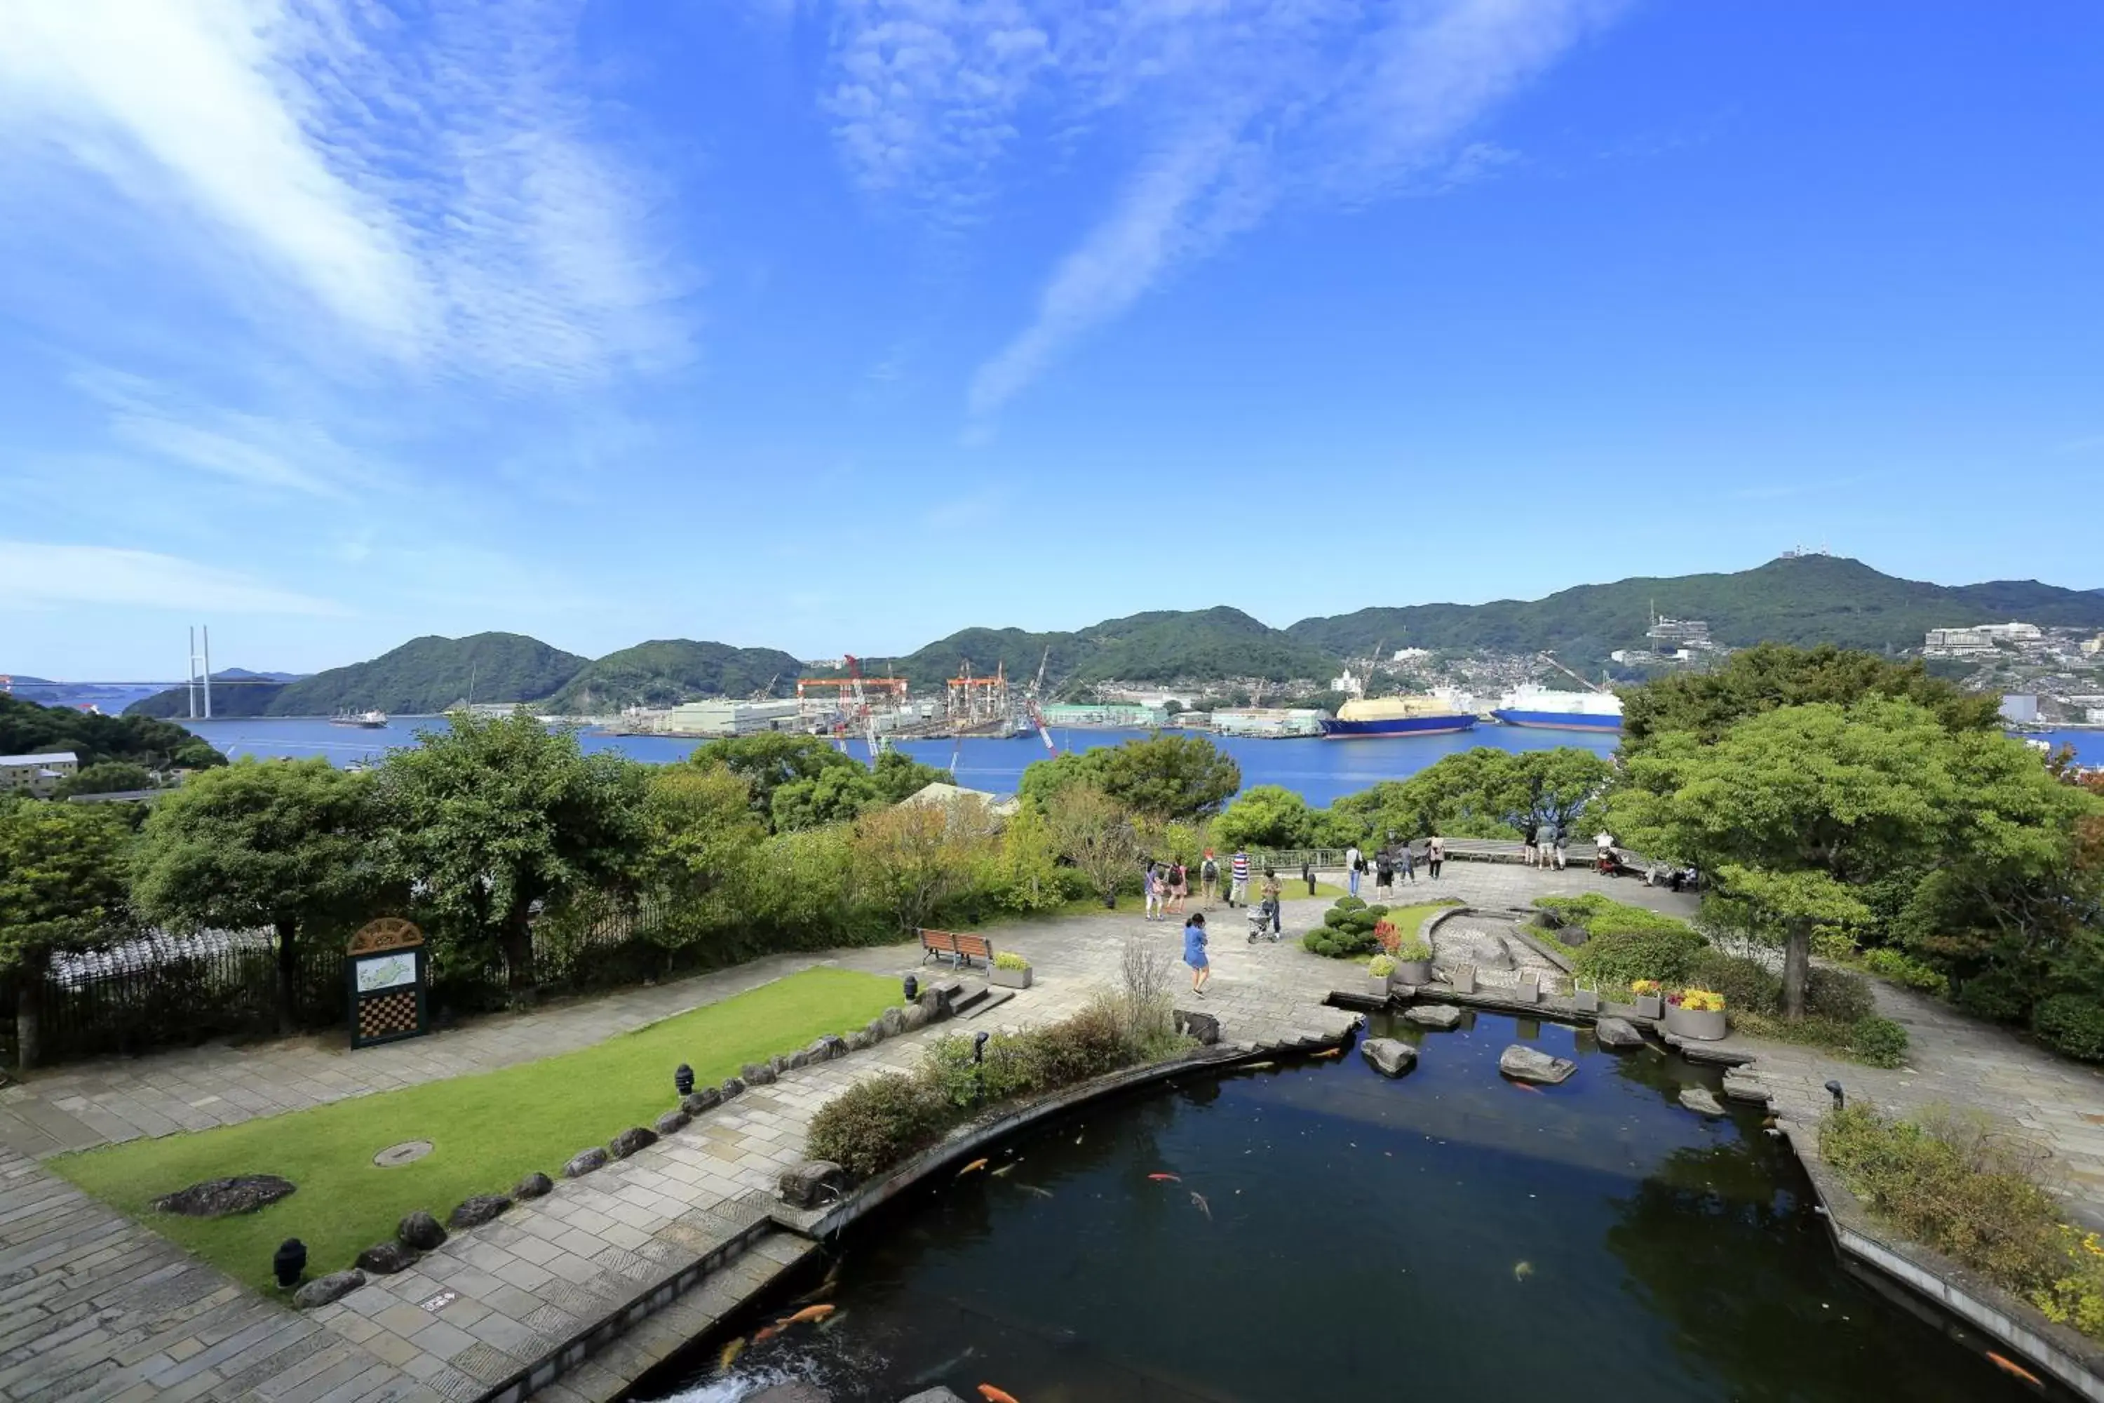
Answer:
[[[583,669],[587,658],[522,633],[417,637],[370,663],[332,667],[282,688],[213,690],[215,715],[335,715],[389,711],[433,715],[461,700],[541,700]],[[183,688],[170,688],[126,715],[185,715]]]

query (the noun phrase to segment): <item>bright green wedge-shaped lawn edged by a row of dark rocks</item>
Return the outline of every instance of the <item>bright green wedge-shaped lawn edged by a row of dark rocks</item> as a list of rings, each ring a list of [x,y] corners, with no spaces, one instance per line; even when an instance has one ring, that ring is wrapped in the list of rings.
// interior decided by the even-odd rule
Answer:
[[[404,1214],[423,1207],[444,1222],[469,1195],[511,1193],[532,1170],[560,1176],[581,1148],[648,1125],[677,1100],[671,1073],[680,1062],[709,1085],[821,1033],[858,1029],[894,1003],[892,978],[806,970],[539,1062],[133,1140],[53,1159],[50,1167],[221,1270],[274,1292],[269,1258],[286,1237],[307,1243],[309,1277],[341,1270],[393,1237]],[[402,1140],[433,1148],[396,1170],[372,1163]],[[219,1220],[147,1207],[175,1188],[234,1174],[280,1174],[299,1191]]]

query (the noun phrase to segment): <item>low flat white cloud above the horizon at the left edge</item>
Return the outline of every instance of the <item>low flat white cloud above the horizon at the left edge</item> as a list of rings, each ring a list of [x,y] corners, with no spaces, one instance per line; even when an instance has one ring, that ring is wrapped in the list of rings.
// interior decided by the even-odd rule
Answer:
[[[103,545],[0,541],[0,608],[84,604],[221,614],[347,612],[330,599],[278,589],[236,570],[175,555]]]

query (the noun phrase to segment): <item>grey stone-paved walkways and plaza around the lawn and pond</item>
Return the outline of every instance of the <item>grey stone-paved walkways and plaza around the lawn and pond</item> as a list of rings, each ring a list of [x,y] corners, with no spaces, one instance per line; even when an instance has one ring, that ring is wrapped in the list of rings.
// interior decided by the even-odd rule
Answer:
[[[1456,896],[1485,909],[1525,907],[1549,892],[1601,890],[1620,900],[1687,913],[1692,898],[1601,879],[1584,871],[1532,873],[1511,865],[1452,862],[1439,883],[1418,881],[1397,902]],[[1246,944],[1239,911],[1212,911],[1214,978],[1193,999],[1176,968],[1176,1003],[1220,1018],[1227,1041],[1336,1037],[1351,1014],[1326,995],[1351,987],[1359,965],[1304,953],[1292,936],[1326,900],[1288,904],[1288,940]],[[993,928],[997,949],[1035,965],[1035,987],[985,1014],[978,1026],[1058,1018],[1115,982],[1126,940],[1180,953],[1176,921],[1081,915]],[[412,1270],[375,1277],[345,1300],[295,1315],[202,1266],[143,1226],[93,1203],[34,1159],[65,1148],[173,1134],[274,1115],[345,1096],[507,1066],[711,1003],[814,963],[901,974],[913,947],[770,957],[656,989],[623,991],[524,1016],[494,1016],[410,1043],[349,1052],[337,1039],[295,1039],[240,1050],[202,1048],[105,1060],[34,1077],[0,1092],[0,1399],[257,1397],[473,1399],[547,1355],[593,1319],[690,1270],[726,1241],[751,1237],[757,1203],[778,1172],[802,1159],[812,1113],[844,1085],[909,1066],[936,1024],[842,1060],[787,1073],[696,1117],[638,1155],[494,1224],[461,1233]],[[1778,1109],[1812,1121],[1828,1077],[1887,1109],[1974,1104],[2016,1119],[2056,1155],[2085,1220],[2104,1201],[2104,1075],[1974,1024],[1917,995],[1881,989],[1885,1012],[1915,1037],[1910,1064],[1879,1073],[1803,1048],[1748,1043],[1751,1077]],[[783,1050],[787,1052],[787,1048]],[[619,1125],[608,1125],[612,1136]],[[566,1146],[570,1148],[585,1146]],[[520,1170],[555,1165],[520,1165]],[[446,1207],[446,1205],[433,1205]],[[587,1363],[541,1397],[610,1399],[642,1367],[736,1306],[808,1245],[762,1233],[745,1256],[644,1331]],[[316,1264],[316,1270],[339,1266]],[[179,1285],[175,1285],[179,1283]],[[442,1302],[442,1304],[433,1304]],[[648,1338],[648,1342],[644,1342]],[[200,1363],[202,1361],[202,1363]]]

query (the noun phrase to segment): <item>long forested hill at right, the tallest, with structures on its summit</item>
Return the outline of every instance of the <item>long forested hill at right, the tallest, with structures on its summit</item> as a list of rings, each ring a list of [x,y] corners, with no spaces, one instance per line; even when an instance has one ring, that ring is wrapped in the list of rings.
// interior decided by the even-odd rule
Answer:
[[[2104,593],[2037,581],[1929,585],[1879,574],[1858,560],[1799,555],[1736,574],[1681,574],[1580,585],[1546,599],[1414,604],[1302,618],[1294,639],[1332,654],[1372,648],[1553,648],[1597,665],[1614,648],[1641,648],[1650,612],[1708,621],[1727,646],[1763,639],[1843,648],[1919,648],[1929,629],[2022,618],[2041,627],[2104,627]]]

